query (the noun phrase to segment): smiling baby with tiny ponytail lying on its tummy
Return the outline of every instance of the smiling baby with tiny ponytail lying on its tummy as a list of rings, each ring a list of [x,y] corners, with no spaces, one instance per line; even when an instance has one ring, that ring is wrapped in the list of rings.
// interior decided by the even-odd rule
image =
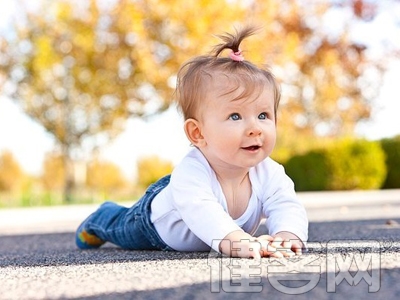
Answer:
[[[79,248],[111,242],[132,250],[212,248],[248,258],[302,253],[306,212],[292,180],[269,158],[279,85],[239,48],[254,32],[245,27],[220,36],[212,55],[181,67],[176,97],[193,149],[131,208],[101,205],[79,226]],[[229,57],[221,57],[226,49]],[[269,235],[253,236],[264,218]]]

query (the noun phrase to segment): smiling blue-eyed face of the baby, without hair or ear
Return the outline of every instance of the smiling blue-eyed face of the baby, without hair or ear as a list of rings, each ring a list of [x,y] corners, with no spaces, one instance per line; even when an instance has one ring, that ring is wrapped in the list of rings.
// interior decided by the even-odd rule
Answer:
[[[211,165],[249,168],[268,157],[276,141],[274,94],[268,84],[250,95],[227,79],[215,80],[201,108],[201,151]],[[217,84],[218,83],[218,84]]]

